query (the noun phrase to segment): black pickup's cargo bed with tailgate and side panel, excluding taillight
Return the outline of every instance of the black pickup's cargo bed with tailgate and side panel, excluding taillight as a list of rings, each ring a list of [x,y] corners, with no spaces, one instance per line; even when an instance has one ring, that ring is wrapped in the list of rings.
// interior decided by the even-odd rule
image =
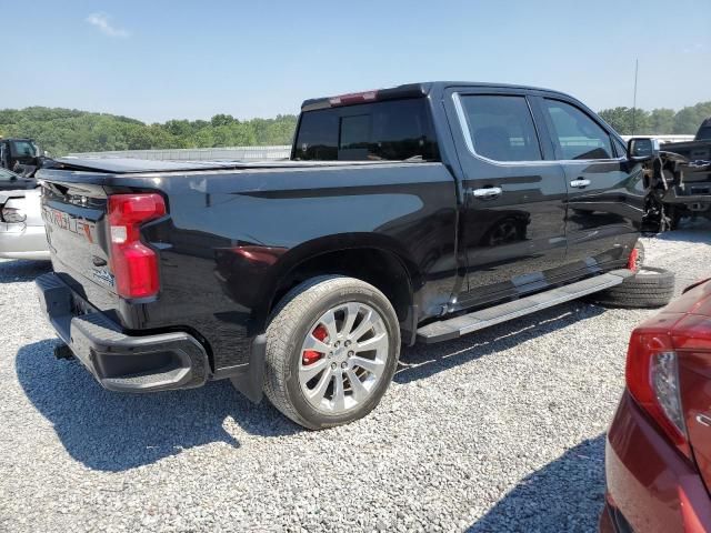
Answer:
[[[214,372],[247,363],[269,283],[321,242],[357,248],[374,235],[434,279],[454,269],[455,182],[441,162],[66,158],[38,178],[60,280],[121,331],[199,332]],[[167,214],[142,228],[159,255],[158,298],[117,294],[106,213],[122,193],[166,200]]]

